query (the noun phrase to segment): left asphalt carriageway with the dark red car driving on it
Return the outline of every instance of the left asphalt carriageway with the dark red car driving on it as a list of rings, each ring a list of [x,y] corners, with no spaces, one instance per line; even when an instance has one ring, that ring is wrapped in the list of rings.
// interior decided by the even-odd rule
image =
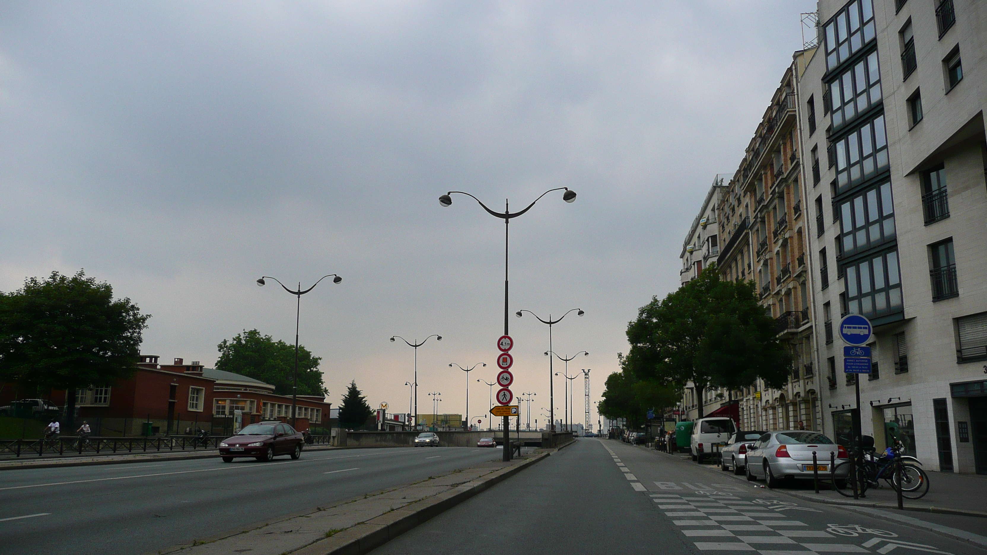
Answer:
[[[499,457],[500,449],[404,447],[8,470],[0,553],[146,553]]]

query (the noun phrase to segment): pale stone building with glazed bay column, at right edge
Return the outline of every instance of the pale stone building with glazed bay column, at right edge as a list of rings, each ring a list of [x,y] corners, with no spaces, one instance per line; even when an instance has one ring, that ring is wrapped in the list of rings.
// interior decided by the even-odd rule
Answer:
[[[822,429],[850,439],[857,376],[834,327],[863,314],[863,433],[987,473],[987,7],[821,0],[818,21],[797,99]]]

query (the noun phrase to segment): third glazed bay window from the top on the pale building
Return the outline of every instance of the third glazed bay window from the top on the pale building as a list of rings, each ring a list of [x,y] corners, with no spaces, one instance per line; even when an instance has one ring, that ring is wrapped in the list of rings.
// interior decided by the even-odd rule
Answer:
[[[868,121],[834,144],[836,191],[842,193],[887,169],[884,116]]]

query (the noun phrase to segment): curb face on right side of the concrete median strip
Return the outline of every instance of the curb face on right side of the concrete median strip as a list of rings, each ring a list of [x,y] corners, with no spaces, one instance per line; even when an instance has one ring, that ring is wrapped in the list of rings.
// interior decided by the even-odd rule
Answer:
[[[474,480],[435,497],[419,501],[418,504],[421,504],[421,507],[418,509],[399,509],[376,516],[292,553],[297,555],[363,555],[369,553],[429,518],[452,509],[549,456],[551,453],[541,453],[503,472],[494,473],[493,476]]]

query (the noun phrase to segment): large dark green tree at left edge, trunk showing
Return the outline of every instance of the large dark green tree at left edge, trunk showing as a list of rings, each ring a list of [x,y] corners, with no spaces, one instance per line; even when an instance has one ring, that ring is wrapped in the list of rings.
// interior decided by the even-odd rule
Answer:
[[[64,389],[71,432],[76,390],[132,375],[150,317],[81,270],[28,278],[17,291],[0,292],[0,381]]]

